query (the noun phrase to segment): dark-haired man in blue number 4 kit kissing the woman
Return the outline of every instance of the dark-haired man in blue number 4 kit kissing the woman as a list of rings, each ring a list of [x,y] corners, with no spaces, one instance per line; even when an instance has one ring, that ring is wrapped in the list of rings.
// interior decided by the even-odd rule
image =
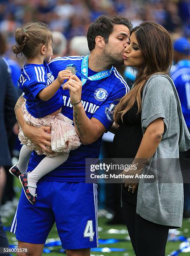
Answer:
[[[83,86],[78,78],[81,74],[77,73],[78,77],[73,75],[61,90],[62,113],[74,120],[83,145],[70,152],[62,166],[38,182],[35,207],[21,194],[17,221],[13,220],[11,230],[16,233],[19,248],[29,248],[30,255],[41,255],[54,222],[67,256],[90,256],[90,248],[98,246],[97,185],[85,183],[85,159],[99,156],[101,137],[112,125],[116,100],[129,90],[112,65],[124,62],[130,28],[126,18],[102,15],[88,29],[89,57],[57,57],[49,63],[55,78],[70,64],[75,64],[83,73]],[[50,136],[45,131],[50,129],[27,125],[20,108],[22,104],[20,98],[15,113],[25,135],[42,150],[49,151],[46,146],[50,146]],[[32,153],[28,171],[32,171],[42,157]]]

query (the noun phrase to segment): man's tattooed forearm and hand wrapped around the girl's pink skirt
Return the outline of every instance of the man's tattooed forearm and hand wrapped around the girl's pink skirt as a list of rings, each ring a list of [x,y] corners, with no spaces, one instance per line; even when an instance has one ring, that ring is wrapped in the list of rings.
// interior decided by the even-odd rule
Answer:
[[[24,120],[23,111],[21,109],[24,101],[25,100],[21,95],[15,105],[15,115],[17,117],[18,123],[23,129],[23,133],[25,136],[30,138],[32,143],[34,143],[38,148],[42,148],[42,150],[45,152],[52,153],[52,151],[46,147],[51,146],[51,136],[47,134],[50,133],[50,127],[41,126],[36,128],[34,126],[28,125]]]

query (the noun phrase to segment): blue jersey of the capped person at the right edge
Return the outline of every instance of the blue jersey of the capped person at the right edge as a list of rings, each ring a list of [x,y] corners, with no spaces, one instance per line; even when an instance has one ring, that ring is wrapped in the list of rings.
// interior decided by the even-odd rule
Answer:
[[[179,61],[174,66],[171,77],[180,97],[185,122],[190,128],[190,61]]]

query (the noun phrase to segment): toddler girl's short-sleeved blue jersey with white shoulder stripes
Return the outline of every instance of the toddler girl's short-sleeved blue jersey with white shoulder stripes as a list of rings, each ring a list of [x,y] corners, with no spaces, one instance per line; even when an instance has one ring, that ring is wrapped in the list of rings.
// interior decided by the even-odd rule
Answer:
[[[38,93],[54,81],[54,76],[46,62],[44,64],[25,64],[18,80],[19,88],[24,92],[26,109],[35,118],[42,118],[60,109],[63,104],[60,90],[50,100],[43,101]]]

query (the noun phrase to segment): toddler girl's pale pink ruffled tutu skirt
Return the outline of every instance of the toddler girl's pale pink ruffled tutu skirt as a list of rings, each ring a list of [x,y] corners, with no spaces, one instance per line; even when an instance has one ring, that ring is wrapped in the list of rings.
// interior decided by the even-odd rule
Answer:
[[[49,157],[55,156],[59,153],[69,153],[71,150],[78,148],[81,145],[80,138],[75,131],[75,127],[72,125],[72,120],[58,113],[57,115],[46,115],[43,118],[34,118],[28,113],[25,103],[22,105],[22,110],[26,123],[29,125],[40,127],[50,126],[51,128],[51,150],[55,154],[48,154],[42,152],[37,148],[28,137],[23,133],[20,127],[20,133],[18,138],[21,144],[26,145],[29,149],[36,151],[39,155],[46,155]]]

